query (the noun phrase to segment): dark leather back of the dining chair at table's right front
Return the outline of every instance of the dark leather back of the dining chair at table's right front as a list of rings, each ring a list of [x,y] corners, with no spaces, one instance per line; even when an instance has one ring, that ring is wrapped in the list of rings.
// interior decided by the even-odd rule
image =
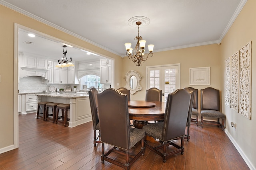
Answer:
[[[162,134],[164,141],[185,135],[192,93],[192,91],[187,92],[184,89],[178,89],[168,94]]]

